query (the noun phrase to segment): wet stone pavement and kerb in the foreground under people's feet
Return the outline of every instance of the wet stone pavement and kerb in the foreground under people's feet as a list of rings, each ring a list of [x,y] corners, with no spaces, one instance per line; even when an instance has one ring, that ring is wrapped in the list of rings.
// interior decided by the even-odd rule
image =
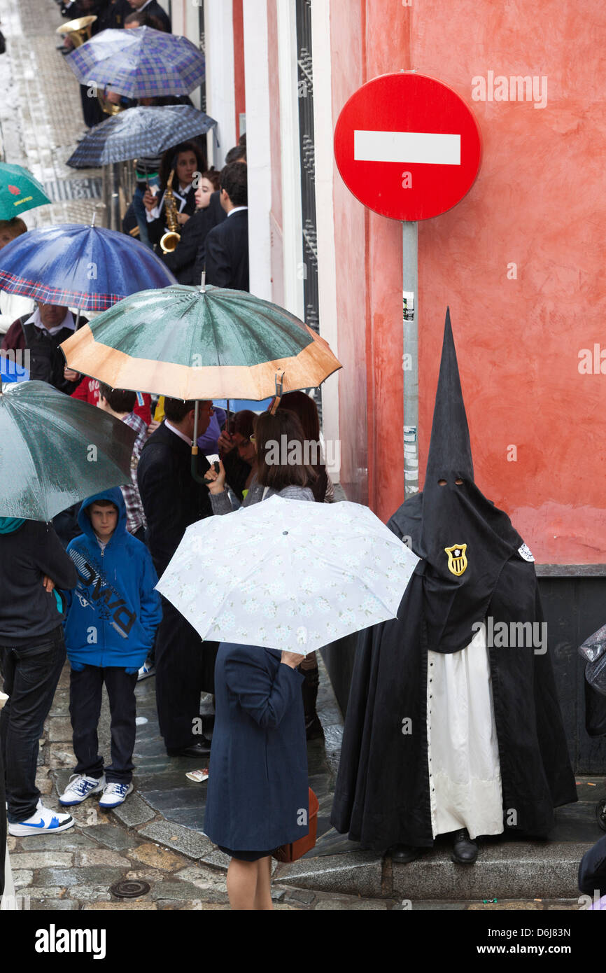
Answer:
[[[134,792],[116,811],[94,797],[72,809],[77,824],[59,835],[9,839],[23,908],[32,910],[228,909],[229,859],[202,834],[206,783],[185,775],[195,760],[168,757],[155,708],[155,677],[137,685]],[[58,810],[58,794],[74,765],[65,667],[41,741],[38,785]],[[209,698],[201,707],[209,711]],[[580,803],[558,810],[549,842],[486,840],[477,865],[450,862],[446,840],[410,865],[365,851],[336,834],[329,814],[339,762],[342,720],[321,666],[318,711],[326,744],[308,743],[310,784],[320,799],[318,844],[292,865],[276,864],[273,898],[283,910],[533,910],[578,909],[576,874],[584,851],[602,834],[595,804],[603,781],[579,777]],[[109,708],[99,725],[100,752],[109,752]],[[120,898],[116,883],[147,883]]]

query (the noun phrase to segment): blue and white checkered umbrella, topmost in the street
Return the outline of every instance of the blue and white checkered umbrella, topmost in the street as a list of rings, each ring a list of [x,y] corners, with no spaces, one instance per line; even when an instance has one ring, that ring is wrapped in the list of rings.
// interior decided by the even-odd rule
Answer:
[[[189,94],[204,80],[204,55],[186,37],[153,27],[102,30],[65,58],[83,85],[127,98]]]

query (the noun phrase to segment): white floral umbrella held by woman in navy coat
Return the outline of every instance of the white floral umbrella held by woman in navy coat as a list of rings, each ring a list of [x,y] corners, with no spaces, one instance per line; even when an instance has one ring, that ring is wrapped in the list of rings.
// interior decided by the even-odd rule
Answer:
[[[272,496],[188,527],[158,591],[202,639],[306,655],[395,618],[417,561],[368,507]]]

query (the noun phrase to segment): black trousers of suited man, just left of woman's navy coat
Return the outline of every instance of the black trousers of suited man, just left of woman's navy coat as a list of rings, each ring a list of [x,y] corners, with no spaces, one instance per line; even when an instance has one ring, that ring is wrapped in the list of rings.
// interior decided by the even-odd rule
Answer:
[[[182,750],[199,739],[200,693],[214,693],[217,642],[202,642],[196,630],[165,598],[156,636],[156,703],[167,750]]]

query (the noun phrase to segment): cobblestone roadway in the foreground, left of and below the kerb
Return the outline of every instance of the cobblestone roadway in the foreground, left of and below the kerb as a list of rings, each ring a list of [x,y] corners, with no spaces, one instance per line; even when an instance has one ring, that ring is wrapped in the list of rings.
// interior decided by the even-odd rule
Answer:
[[[155,679],[137,687],[152,697]],[[45,804],[59,810],[57,794],[75,758],[68,716],[69,667],[63,670],[53,708],[40,741],[37,784]],[[149,709],[146,709],[149,712]],[[157,728],[156,728],[157,732]],[[100,752],[109,750],[109,712],[104,699],[99,725]],[[136,762],[136,758],[135,758]],[[191,762],[173,761],[183,776]],[[136,773],[136,772],[135,772]],[[135,775],[136,783],[136,775]],[[58,835],[9,838],[11,865],[22,908],[31,910],[206,910],[229,909],[227,857],[201,833],[166,821],[135,791],[115,812],[98,810],[94,797],[70,809],[77,824]],[[201,804],[200,804],[201,816]],[[204,859],[204,860],[202,860]],[[209,864],[208,861],[215,864]],[[277,866],[279,867],[279,866]],[[120,899],[111,886],[148,883],[149,891]],[[289,886],[274,887],[279,910],[382,910],[395,900],[363,899]]]

